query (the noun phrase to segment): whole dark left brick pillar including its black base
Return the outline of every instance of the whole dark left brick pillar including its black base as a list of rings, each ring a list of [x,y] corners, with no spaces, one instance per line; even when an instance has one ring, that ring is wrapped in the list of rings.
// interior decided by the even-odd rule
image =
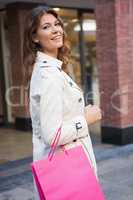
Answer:
[[[31,9],[27,4],[9,4],[7,6],[8,33],[11,54],[12,72],[12,116],[17,129],[31,129],[30,114],[28,110],[28,93],[24,85],[24,67],[22,61],[23,26],[25,15]]]

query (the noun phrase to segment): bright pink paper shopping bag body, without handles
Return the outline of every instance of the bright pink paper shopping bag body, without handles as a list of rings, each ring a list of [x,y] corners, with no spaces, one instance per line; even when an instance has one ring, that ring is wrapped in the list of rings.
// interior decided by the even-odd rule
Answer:
[[[105,200],[82,146],[32,163],[40,200]]]

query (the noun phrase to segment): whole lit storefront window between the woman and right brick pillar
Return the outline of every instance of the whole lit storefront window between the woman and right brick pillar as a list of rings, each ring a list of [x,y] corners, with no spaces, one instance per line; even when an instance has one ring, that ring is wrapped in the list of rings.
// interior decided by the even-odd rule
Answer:
[[[71,44],[70,75],[84,90],[86,103],[94,103],[93,90],[98,90],[95,15],[76,9],[55,8],[55,10],[63,19]]]

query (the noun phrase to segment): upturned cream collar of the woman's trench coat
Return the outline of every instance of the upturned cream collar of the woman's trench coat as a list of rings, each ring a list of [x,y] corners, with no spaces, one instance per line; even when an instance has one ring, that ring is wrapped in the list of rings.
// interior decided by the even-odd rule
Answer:
[[[62,61],[49,56],[41,51],[37,52],[36,62],[39,64],[40,67],[57,67],[61,69]]]

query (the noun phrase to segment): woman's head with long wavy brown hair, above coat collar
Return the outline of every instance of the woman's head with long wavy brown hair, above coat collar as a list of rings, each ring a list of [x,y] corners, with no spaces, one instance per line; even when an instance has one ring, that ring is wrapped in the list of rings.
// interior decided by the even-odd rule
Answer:
[[[63,61],[62,69],[67,72],[70,47],[64,24],[53,9],[44,6],[38,6],[29,12],[25,20],[23,42],[25,84],[28,84],[31,78],[37,51],[45,51],[54,57],[57,56]]]

